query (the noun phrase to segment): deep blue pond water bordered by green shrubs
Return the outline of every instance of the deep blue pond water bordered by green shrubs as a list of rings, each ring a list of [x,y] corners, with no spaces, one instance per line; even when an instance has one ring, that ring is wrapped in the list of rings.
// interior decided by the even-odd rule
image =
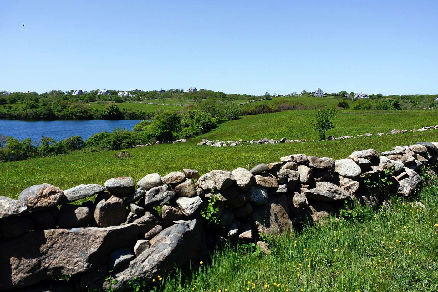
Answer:
[[[31,138],[39,141],[41,135],[57,141],[79,135],[86,140],[99,132],[112,132],[115,128],[132,130],[137,120],[88,120],[88,121],[16,121],[0,119],[0,134],[15,139]]]

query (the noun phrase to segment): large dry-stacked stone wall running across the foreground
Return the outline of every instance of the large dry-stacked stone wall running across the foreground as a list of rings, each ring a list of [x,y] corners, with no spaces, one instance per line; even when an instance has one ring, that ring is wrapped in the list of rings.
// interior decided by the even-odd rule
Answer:
[[[254,242],[267,251],[260,233],[337,216],[345,200],[383,203],[387,194],[370,190],[364,178],[392,169],[389,191],[411,195],[422,165],[436,166],[437,146],[417,142],[380,156],[361,150],[340,160],[293,154],[251,170],[213,170],[201,177],[189,169],[147,174],[137,189],[129,177],[64,191],[33,185],[18,200],[0,197],[0,290],[108,288],[109,271],[117,280],[112,288],[121,290],[134,277],[151,283],[175,264],[205,259],[226,241]],[[94,202],[85,201],[94,196]],[[209,205],[215,211],[206,220]]]

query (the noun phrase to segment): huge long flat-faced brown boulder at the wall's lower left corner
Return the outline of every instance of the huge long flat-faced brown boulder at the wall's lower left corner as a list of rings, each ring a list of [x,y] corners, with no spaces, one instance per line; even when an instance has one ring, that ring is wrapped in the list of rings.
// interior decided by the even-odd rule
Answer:
[[[105,264],[113,250],[134,246],[138,226],[50,229],[0,241],[0,290],[74,275]]]

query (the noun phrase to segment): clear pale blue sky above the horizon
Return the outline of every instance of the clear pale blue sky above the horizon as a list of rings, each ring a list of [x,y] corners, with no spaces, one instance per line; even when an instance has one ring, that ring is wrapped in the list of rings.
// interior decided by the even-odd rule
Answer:
[[[0,0],[0,12],[0,91],[438,93],[436,0]]]

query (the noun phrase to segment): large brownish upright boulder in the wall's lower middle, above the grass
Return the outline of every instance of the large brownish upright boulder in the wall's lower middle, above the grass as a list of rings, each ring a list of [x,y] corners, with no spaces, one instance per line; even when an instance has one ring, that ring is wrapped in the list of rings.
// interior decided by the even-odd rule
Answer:
[[[293,229],[285,195],[269,196],[265,205],[251,213],[251,222],[258,233],[278,235]]]

